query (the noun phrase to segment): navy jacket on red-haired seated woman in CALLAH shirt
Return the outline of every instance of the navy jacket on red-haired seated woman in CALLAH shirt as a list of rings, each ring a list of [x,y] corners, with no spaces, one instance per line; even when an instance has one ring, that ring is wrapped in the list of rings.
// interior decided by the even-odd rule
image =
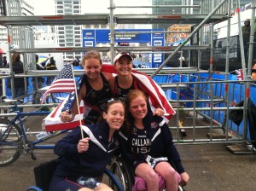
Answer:
[[[135,160],[142,161],[146,159],[148,154],[153,158],[167,157],[169,162],[174,165],[176,171],[179,174],[183,173],[184,168],[181,163],[180,155],[172,141],[172,132],[165,120],[161,117],[150,115],[147,116],[147,119],[143,120],[143,124],[145,127],[145,135],[148,137],[148,140],[150,140],[150,143],[148,145],[146,144],[144,150],[141,151],[144,152],[147,150],[149,153],[135,153],[135,151],[131,151],[132,137],[136,137],[137,132],[135,132],[136,129],[129,131],[124,127],[119,130],[119,144],[120,148],[122,148],[121,152],[130,159],[131,164],[134,164]],[[135,144],[139,145],[143,143],[144,142],[137,142]],[[136,152],[138,152],[138,150]]]

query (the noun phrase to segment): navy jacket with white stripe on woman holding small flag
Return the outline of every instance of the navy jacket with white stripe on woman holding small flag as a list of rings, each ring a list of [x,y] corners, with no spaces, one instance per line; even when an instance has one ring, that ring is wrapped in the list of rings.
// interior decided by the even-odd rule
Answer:
[[[108,142],[109,126],[107,122],[83,126],[84,138],[90,137],[89,149],[78,152],[78,142],[81,139],[80,128],[72,130],[67,136],[56,142],[54,153],[60,156],[60,165],[55,170],[55,176],[70,177],[100,177],[106,165],[110,163],[113,153],[118,148],[117,133]]]

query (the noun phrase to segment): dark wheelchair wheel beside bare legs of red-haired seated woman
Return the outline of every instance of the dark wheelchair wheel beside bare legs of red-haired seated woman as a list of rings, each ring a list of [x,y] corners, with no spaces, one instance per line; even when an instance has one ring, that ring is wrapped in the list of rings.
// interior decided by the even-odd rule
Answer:
[[[131,170],[131,167],[127,165],[125,159],[122,159],[120,157],[113,159],[110,165],[110,171],[113,172],[114,176],[121,183],[125,191],[131,191],[134,182],[132,181],[132,179],[134,179],[133,172]],[[113,190],[116,190],[111,180],[109,182],[109,185],[111,186],[111,188],[113,188]]]

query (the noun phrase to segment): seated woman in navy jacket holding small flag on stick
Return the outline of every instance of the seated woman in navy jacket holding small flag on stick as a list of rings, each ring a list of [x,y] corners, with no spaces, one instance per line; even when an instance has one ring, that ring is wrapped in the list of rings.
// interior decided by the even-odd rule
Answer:
[[[102,123],[89,124],[72,130],[56,142],[54,152],[60,156],[49,191],[112,190],[100,182],[103,172],[118,147],[117,130],[125,119],[121,101],[108,102]],[[83,137],[81,138],[81,132]],[[90,147],[89,147],[90,142]]]

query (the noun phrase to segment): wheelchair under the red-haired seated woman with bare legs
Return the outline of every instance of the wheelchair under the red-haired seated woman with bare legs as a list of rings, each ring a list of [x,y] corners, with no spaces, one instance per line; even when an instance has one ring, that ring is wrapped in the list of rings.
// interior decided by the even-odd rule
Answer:
[[[147,184],[141,177],[135,177],[134,172],[132,171],[131,165],[128,160],[119,156],[116,156],[112,159],[110,165],[110,171],[113,172],[113,175],[118,179],[122,184],[122,187],[125,191],[146,191]],[[184,191],[183,185],[181,184],[181,177],[177,173],[178,186],[177,191]],[[113,185],[113,182],[109,182],[109,185]],[[113,187],[112,187],[113,188]],[[159,188],[160,190],[165,190],[166,182],[159,175]]]

